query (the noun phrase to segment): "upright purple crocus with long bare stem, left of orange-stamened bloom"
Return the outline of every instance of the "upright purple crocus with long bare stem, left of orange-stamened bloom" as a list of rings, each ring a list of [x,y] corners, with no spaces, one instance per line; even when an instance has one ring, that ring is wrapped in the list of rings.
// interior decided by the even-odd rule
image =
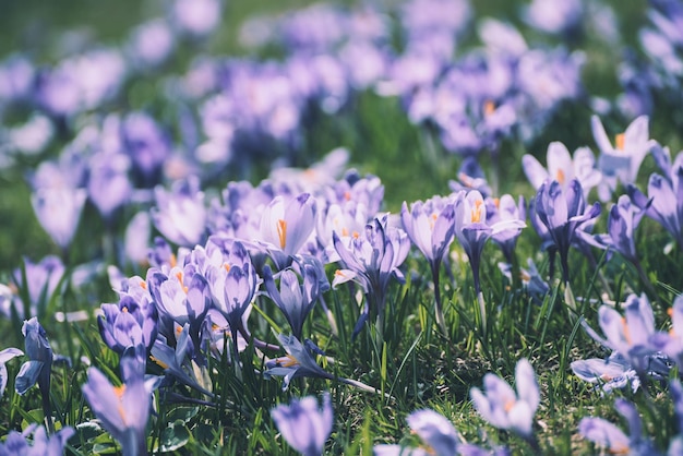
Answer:
[[[446,323],[441,303],[439,275],[441,262],[454,239],[454,203],[446,199],[433,197],[424,203],[415,202],[410,205],[410,212],[404,202],[400,208],[400,220],[404,229],[429,262],[434,281],[436,322],[444,334],[446,334]]]

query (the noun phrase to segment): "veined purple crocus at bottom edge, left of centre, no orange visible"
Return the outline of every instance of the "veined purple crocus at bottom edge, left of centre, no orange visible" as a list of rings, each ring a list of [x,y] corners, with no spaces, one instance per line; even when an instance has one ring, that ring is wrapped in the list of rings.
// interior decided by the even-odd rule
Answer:
[[[283,437],[297,452],[304,456],[323,454],[334,419],[329,393],[323,396],[322,408],[315,397],[308,396],[273,408],[271,417]]]

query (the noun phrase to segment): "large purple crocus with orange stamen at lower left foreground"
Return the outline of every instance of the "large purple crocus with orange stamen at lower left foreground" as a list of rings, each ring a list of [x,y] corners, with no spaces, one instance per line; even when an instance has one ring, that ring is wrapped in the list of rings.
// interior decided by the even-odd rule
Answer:
[[[120,386],[113,386],[97,368],[89,368],[83,396],[103,428],[119,441],[124,456],[146,455],[153,386],[145,383],[145,363],[137,356],[123,356],[120,365]]]

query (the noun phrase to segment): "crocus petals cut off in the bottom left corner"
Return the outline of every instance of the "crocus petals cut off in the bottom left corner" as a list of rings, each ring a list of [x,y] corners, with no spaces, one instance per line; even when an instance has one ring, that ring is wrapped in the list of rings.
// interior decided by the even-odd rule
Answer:
[[[61,456],[67,451],[67,442],[75,433],[73,428],[65,427],[48,436],[44,427],[29,424],[24,432],[10,431],[4,442],[0,443],[2,456]],[[33,434],[32,439],[26,439]]]

